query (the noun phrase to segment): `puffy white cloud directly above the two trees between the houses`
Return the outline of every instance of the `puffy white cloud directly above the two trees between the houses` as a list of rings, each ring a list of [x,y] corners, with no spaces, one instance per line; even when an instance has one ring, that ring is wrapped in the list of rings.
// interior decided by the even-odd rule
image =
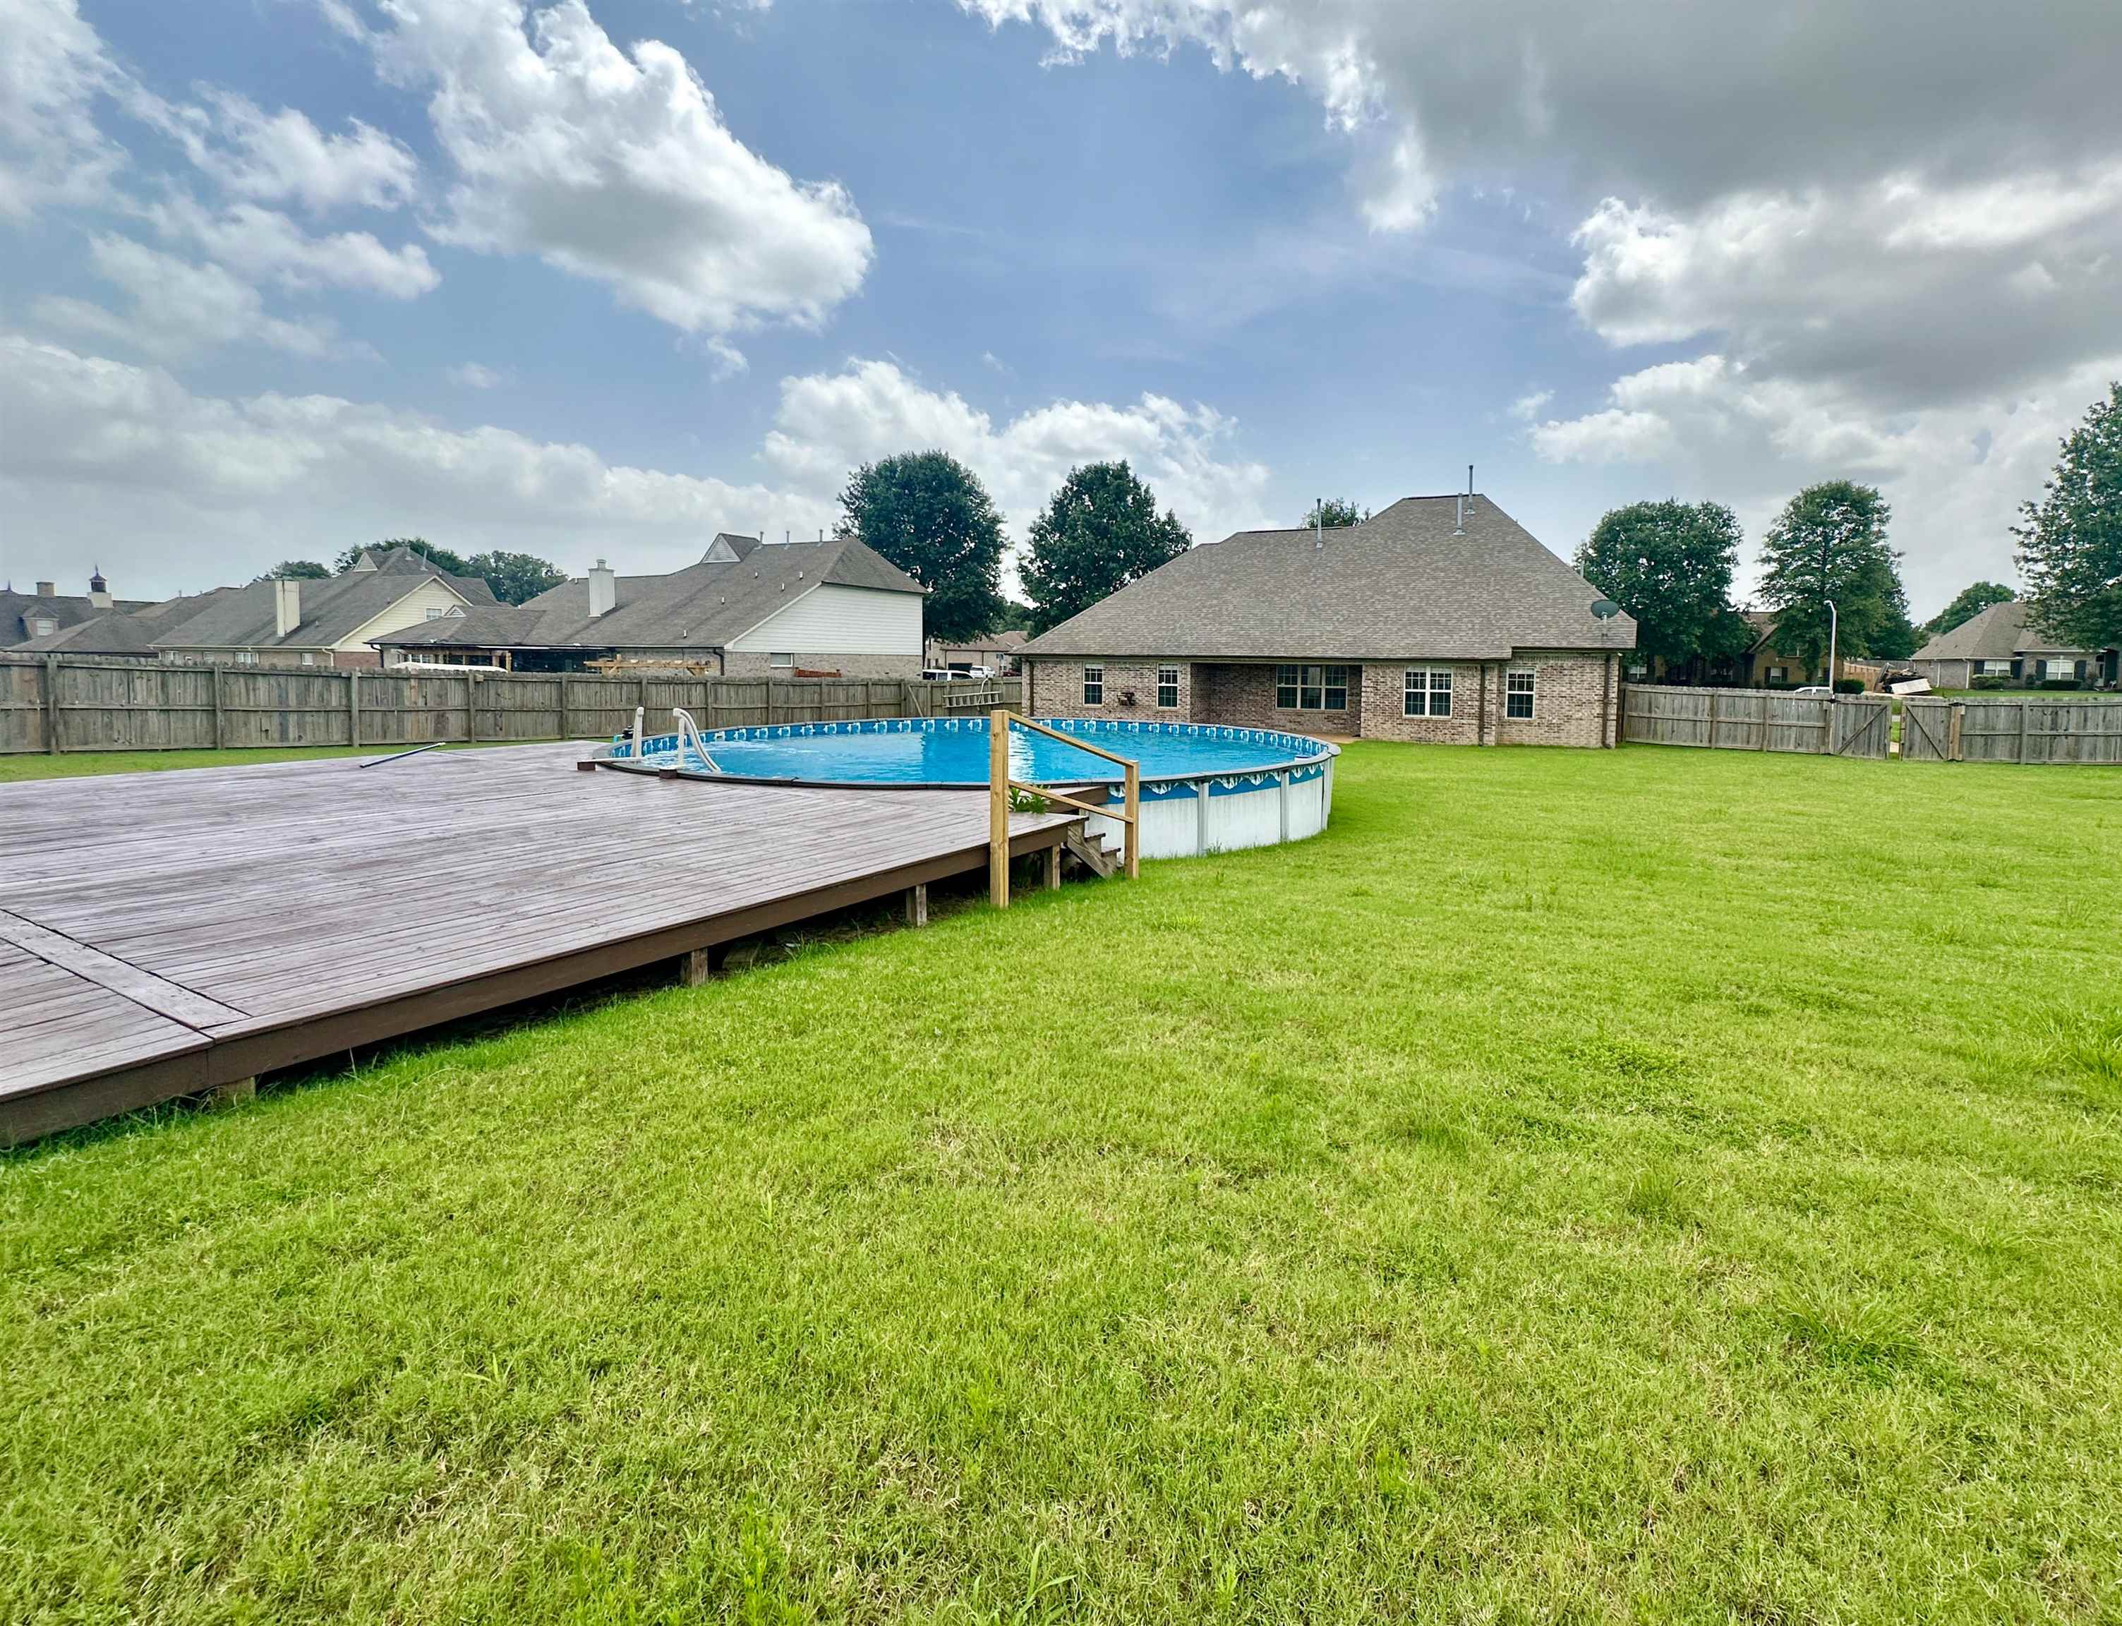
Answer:
[[[1212,408],[1161,395],[1133,405],[1055,401],[997,425],[889,361],[851,361],[838,374],[783,380],[766,461],[789,484],[825,492],[857,463],[940,448],[980,475],[1023,539],[1072,467],[1127,459],[1197,541],[1216,541],[1265,516],[1267,469],[1224,456],[1231,431]]]

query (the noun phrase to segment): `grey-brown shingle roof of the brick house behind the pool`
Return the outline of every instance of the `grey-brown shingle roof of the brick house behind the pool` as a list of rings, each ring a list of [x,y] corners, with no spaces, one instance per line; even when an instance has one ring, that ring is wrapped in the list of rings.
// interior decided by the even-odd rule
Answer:
[[[1504,660],[1515,650],[1632,650],[1630,616],[1475,495],[1407,497],[1362,524],[1239,531],[1193,548],[1031,639],[1023,656],[1193,660]]]

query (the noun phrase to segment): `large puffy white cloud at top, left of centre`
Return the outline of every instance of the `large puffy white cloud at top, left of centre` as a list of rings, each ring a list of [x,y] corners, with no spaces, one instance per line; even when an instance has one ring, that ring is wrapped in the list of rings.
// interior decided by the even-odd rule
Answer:
[[[376,11],[342,21],[388,79],[431,91],[454,166],[443,242],[539,255],[688,333],[815,325],[862,287],[872,244],[847,191],[747,149],[668,45],[622,51],[581,0]]]

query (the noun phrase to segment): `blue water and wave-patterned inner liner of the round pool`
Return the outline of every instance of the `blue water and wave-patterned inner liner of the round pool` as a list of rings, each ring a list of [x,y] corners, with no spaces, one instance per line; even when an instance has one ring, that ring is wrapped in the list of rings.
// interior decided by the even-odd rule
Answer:
[[[1243,777],[1297,768],[1324,771],[1335,747],[1271,728],[1171,722],[1055,722],[1086,743],[1131,758],[1144,783],[1159,779]],[[887,717],[881,722],[779,724],[700,734],[713,768],[679,747],[677,734],[643,741],[641,762],[732,779],[796,779],[828,785],[985,785],[987,717]],[[613,760],[630,760],[620,739]],[[1089,751],[1023,728],[1010,730],[1010,777],[1033,785],[1118,783],[1123,768]]]

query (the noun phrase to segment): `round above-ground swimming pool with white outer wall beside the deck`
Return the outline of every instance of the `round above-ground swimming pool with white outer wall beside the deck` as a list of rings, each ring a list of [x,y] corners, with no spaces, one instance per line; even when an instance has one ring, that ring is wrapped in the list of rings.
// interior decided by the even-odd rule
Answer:
[[[1339,747],[1305,734],[1190,722],[1069,720],[1046,726],[1140,764],[1144,858],[1303,841],[1324,830],[1333,811]],[[618,768],[779,785],[987,785],[987,717],[719,728],[696,739],[705,760],[675,732],[649,734],[639,756],[622,737],[601,747],[596,758]],[[1120,800],[1123,771],[1116,762],[1023,728],[1010,730],[1010,777],[1063,788],[1080,800]],[[1093,817],[1089,828],[1114,845],[1120,841],[1118,819]]]

